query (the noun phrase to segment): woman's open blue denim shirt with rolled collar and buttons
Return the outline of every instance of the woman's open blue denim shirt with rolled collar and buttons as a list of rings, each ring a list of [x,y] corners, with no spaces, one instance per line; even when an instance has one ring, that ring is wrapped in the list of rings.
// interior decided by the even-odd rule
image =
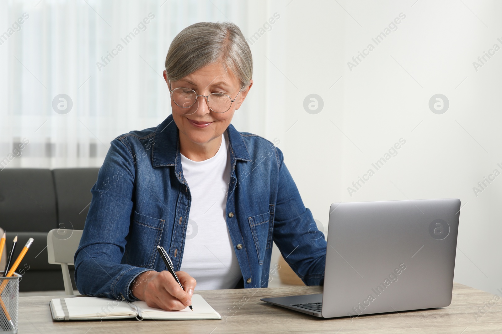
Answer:
[[[281,150],[231,124],[226,131],[225,217],[244,287],[268,286],[273,241],[305,284],[322,284],[324,234],[305,208]],[[74,258],[81,293],[138,300],[130,291],[133,280],[148,270],[166,270],[157,245],[180,269],[191,196],[178,133],[170,115],[155,128],[111,141]]]

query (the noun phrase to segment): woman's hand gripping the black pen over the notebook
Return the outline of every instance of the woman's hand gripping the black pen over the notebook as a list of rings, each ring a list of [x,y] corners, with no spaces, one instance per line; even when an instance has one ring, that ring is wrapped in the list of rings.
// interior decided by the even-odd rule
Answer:
[[[131,284],[131,290],[136,298],[145,301],[150,307],[167,311],[184,309],[192,303],[193,290],[197,282],[185,271],[177,271],[176,275],[185,290],[167,270],[141,273]]]

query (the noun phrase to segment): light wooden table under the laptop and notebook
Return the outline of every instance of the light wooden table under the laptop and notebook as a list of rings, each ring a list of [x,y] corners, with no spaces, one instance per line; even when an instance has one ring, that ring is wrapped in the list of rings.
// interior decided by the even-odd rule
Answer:
[[[502,298],[454,283],[448,307],[322,319],[260,300],[263,297],[321,293],[320,286],[197,291],[221,320],[52,320],[49,300],[20,297],[19,333],[496,333],[502,332]]]

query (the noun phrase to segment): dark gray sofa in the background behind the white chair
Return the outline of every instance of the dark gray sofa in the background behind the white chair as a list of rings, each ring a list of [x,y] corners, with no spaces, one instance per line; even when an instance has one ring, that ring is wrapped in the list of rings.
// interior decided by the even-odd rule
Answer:
[[[7,232],[7,248],[17,234],[17,256],[28,239],[34,238],[17,270],[24,269],[20,291],[64,290],[61,266],[48,263],[47,232],[53,228],[84,228],[90,189],[98,171],[99,168],[0,171],[0,227]],[[70,275],[75,289],[73,266]]]

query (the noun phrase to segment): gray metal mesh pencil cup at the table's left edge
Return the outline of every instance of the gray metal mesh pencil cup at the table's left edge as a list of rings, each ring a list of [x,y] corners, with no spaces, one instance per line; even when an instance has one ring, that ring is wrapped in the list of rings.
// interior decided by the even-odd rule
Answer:
[[[17,334],[19,307],[19,279],[21,275],[4,277],[0,271],[0,334]]]

